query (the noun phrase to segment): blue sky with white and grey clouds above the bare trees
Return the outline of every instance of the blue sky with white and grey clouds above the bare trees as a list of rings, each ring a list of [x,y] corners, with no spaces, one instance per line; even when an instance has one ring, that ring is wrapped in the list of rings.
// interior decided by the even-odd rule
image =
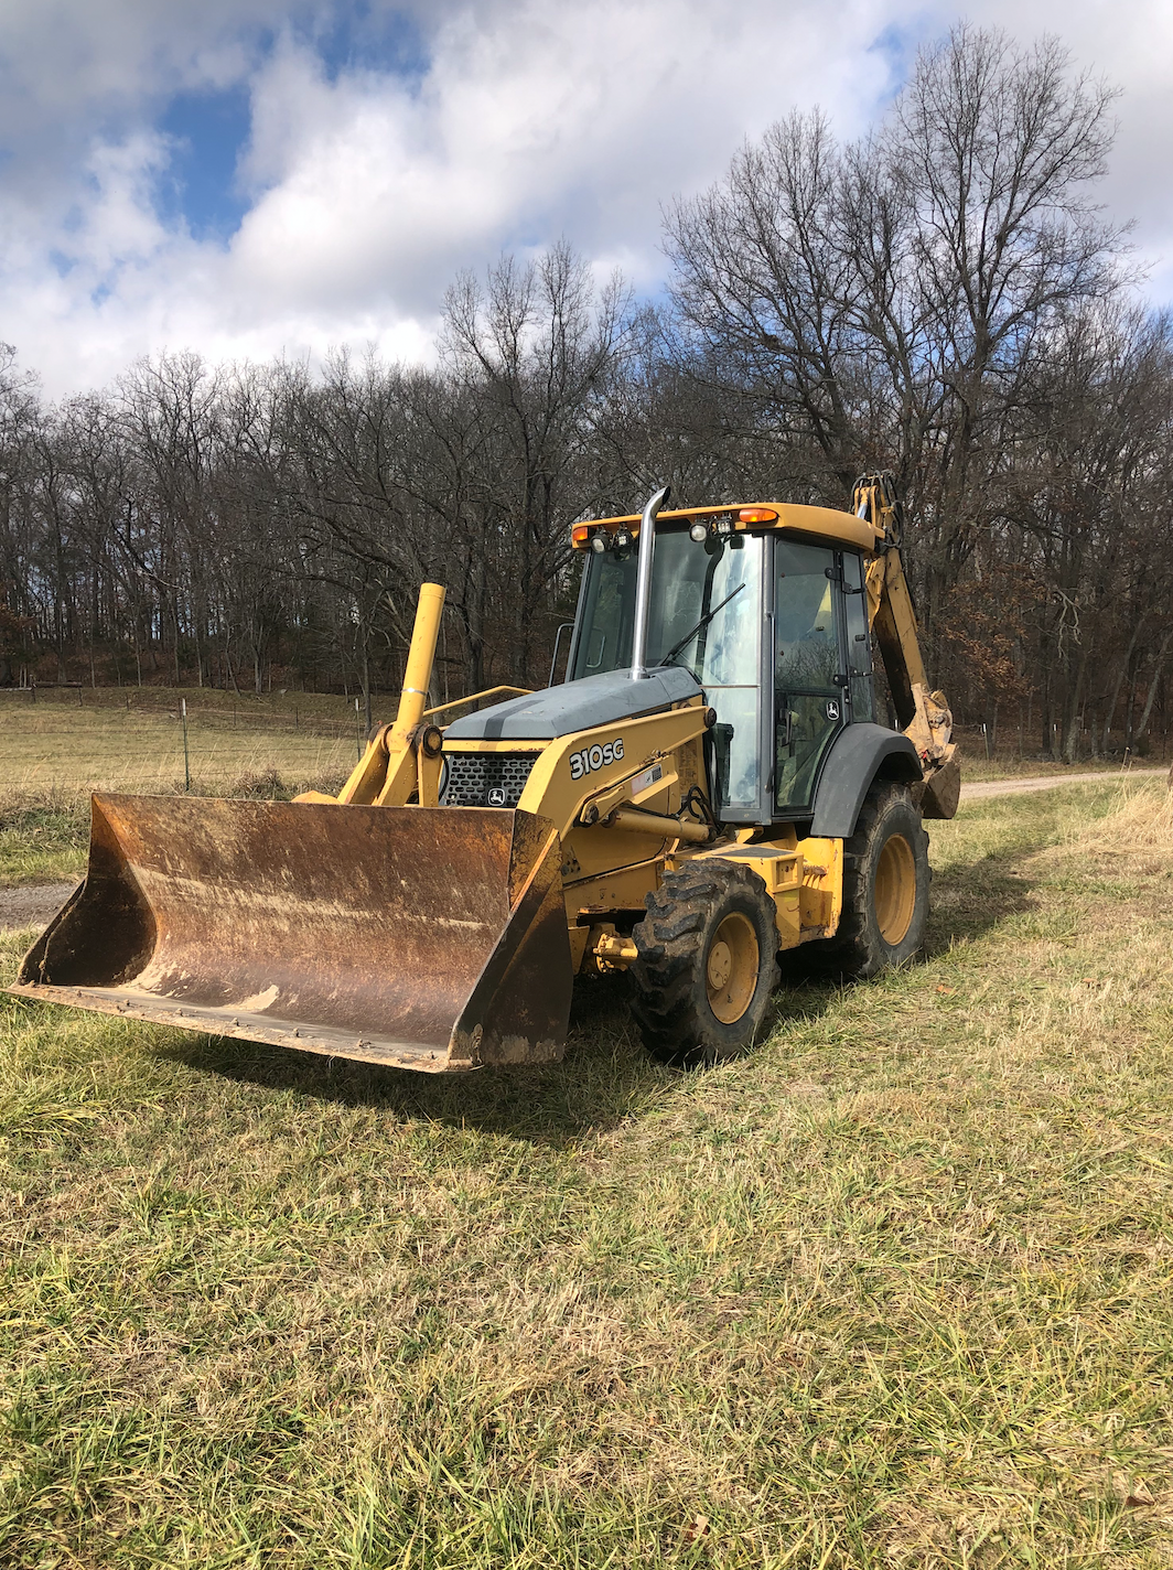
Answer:
[[[60,396],[143,353],[427,358],[444,286],[568,237],[663,287],[661,206],[820,104],[843,135],[945,0],[5,0],[0,341]],[[1173,6],[975,0],[1123,88],[1109,214],[1173,297]]]

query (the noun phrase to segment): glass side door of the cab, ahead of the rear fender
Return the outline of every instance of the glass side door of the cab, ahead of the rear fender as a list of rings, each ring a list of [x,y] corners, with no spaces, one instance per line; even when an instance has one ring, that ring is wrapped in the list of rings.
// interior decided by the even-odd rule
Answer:
[[[776,818],[802,816],[835,736],[848,722],[842,556],[821,545],[774,543]]]

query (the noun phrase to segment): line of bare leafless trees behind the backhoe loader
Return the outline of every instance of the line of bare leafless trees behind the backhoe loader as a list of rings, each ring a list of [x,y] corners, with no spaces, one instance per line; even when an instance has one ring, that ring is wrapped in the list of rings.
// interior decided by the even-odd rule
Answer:
[[[0,356],[0,683],[543,685],[576,518],[845,506],[889,468],[955,711],[1074,760],[1168,721],[1173,334],[1098,184],[1113,94],[958,28],[868,137],[791,115],[664,218],[667,300],[568,245],[448,290],[435,361],[160,355],[46,402]]]

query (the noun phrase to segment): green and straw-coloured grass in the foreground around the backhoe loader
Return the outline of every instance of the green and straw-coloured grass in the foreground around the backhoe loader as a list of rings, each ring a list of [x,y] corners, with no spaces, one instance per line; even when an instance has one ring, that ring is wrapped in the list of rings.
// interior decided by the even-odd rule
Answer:
[[[441,1082],[0,1000],[0,1564],[1168,1565],[1173,816],[933,857],[692,1075],[603,986]]]

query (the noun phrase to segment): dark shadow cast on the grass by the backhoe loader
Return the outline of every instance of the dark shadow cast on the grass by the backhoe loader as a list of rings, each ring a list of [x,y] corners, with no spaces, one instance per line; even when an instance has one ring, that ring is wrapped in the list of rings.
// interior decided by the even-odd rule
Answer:
[[[999,856],[937,873],[925,950],[915,962],[933,959],[958,940],[980,939],[1007,915],[1025,909],[1030,890],[1030,878]],[[813,945],[784,955],[771,1035],[821,1017],[835,1005],[837,983],[837,967]],[[575,983],[561,1063],[429,1075],[223,1036],[187,1038],[159,1052],[242,1083],[344,1107],[378,1107],[405,1121],[437,1121],[551,1145],[645,1116],[686,1090],[697,1074],[713,1072],[667,1069],[649,1060],[628,1013],[622,977]]]

